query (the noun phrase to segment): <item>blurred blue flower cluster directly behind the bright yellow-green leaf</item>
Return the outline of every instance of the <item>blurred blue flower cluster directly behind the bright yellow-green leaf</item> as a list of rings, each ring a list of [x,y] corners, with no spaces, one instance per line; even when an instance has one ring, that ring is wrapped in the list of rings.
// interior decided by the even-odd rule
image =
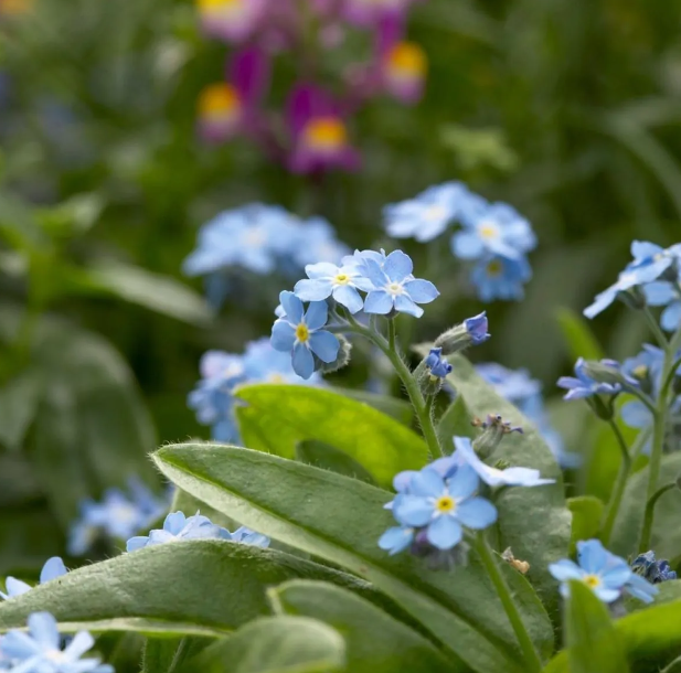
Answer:
[[[241,355],[208,351],[200,363],[201,381],[189,394],[188,406],[202,425],[211,426],[216,441],[240,441],[234,415],[238,404],[235,389],[247,383],[289,383],[318,385],[321,376],[305,380],[294,371],[288,354],[276,351],[266,336],[246,344]]]

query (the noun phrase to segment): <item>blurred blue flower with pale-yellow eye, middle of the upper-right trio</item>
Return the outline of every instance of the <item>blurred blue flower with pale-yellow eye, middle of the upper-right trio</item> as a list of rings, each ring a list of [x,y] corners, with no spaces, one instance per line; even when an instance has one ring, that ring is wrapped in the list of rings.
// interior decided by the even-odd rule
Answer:
[[[530,223],[506,203],[471,202],[461,217],[464,228],[451,237],[451,252],[460,259],[498,255],[519,259],[534,249]]]

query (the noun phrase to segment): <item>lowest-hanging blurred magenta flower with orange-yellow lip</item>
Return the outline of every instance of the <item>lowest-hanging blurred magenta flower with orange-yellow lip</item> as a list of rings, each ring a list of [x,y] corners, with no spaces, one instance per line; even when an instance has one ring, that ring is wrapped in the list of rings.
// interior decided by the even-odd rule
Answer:
[[[298,85],[289,95],[288,125],[292,137],[289,169],[315,173],[333,168],[354,171],[360,156],[348,141],[348,128],[338,106],[322,89]]]

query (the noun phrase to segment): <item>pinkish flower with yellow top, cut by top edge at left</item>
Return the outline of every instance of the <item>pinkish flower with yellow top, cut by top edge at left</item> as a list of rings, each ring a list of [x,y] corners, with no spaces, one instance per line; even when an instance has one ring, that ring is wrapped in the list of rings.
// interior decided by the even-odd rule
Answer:
[[[259,28],[270,0],[196,0],[201,28],[225,42],[244,42]]]

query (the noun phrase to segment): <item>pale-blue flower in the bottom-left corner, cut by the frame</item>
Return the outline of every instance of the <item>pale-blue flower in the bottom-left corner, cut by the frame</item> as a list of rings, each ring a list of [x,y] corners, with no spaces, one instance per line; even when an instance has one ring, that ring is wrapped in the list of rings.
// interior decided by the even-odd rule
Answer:
[[[95,644],[87,631],[78,631],[62,649],[56,619],[50,612],[33,612],[28,619],[29,631],[12,629],[0,641],[0,654],[9,660],[17,673],[114,673],[99,659],[82,659]]]

